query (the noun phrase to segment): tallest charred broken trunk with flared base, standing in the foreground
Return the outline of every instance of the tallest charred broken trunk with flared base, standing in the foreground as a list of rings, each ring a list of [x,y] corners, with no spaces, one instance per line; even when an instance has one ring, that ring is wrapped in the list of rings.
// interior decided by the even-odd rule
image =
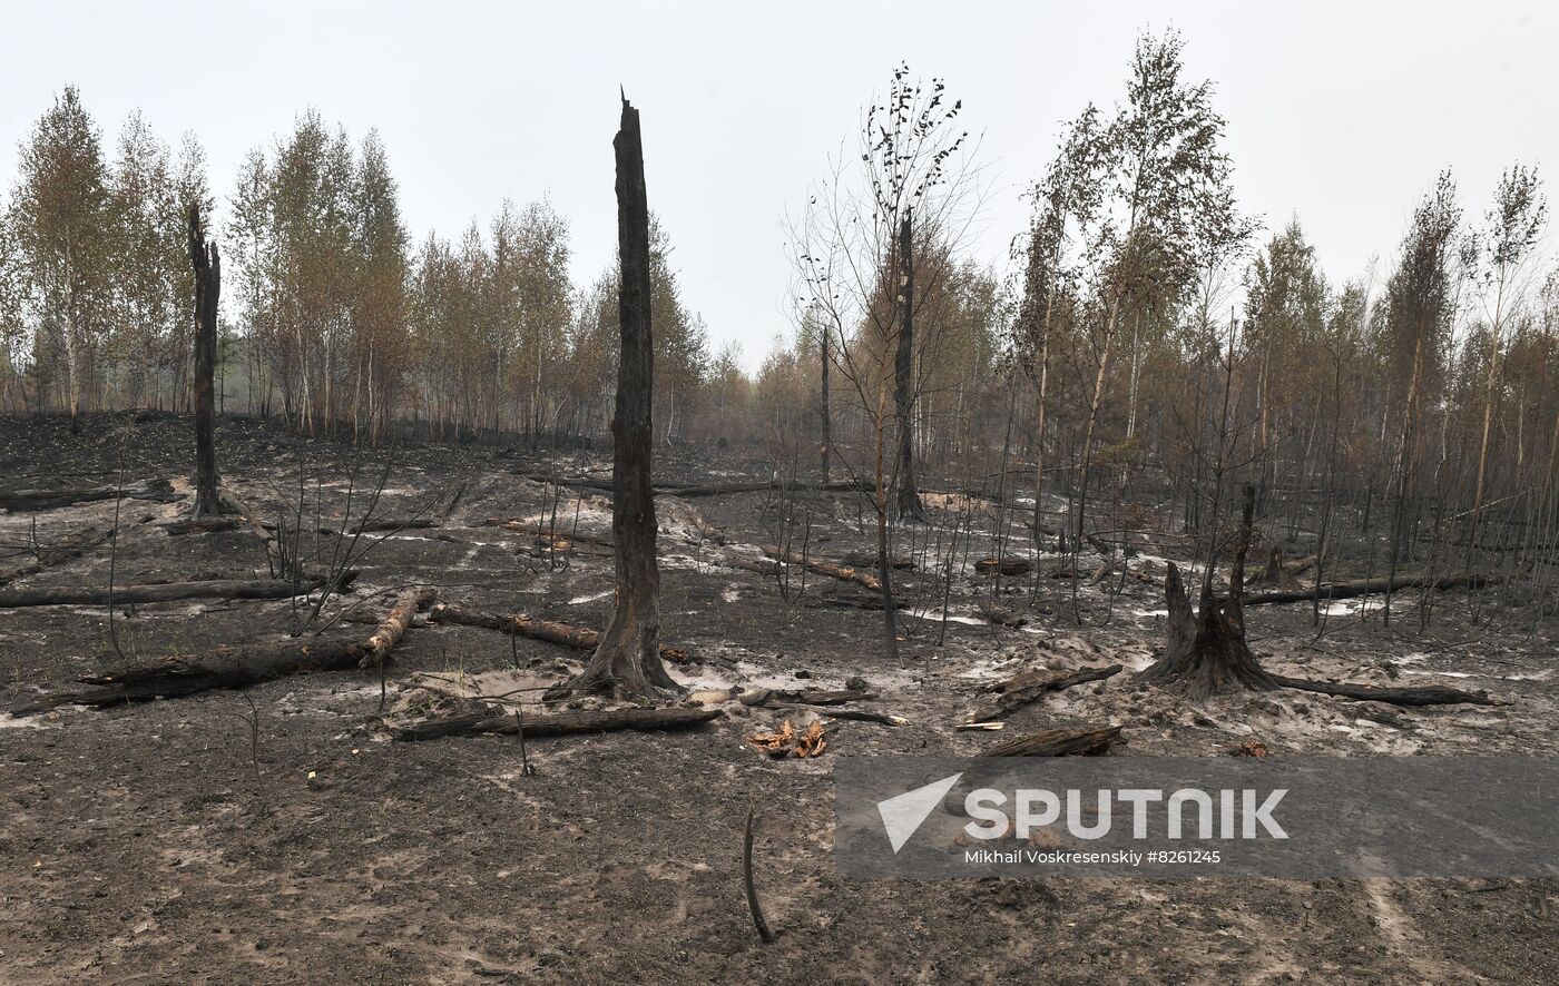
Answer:
[[[650,481],[650,394],[655,350],[650,338],[650,210],[644,188],[639,111],[622,100],[617,153],[617,315],[622,358],[611,419],[611,534],[617,597],[600,643],[585,670],[561,692],[655,699],[681,688],[661,664],[661,573],[655,561],[655,489]]]

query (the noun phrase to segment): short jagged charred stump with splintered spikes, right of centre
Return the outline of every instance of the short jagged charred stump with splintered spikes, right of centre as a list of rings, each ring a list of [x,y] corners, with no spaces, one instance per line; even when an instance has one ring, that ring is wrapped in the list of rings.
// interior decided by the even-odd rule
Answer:
[[[1160,685],[1193,701],[1228,692],[1264,692],[1281,687],[1261,670],[1246,643],[1244,583],[1246,553],[1255,516],[1255,488],[1246,486],[1239,519],[1239,548],[1228,572],[1228,598],[1213,597],[1213,578],[1202,579],[1200,612],[1191,612],[1191,598],[1180,579],[1180,569],[1169,564],[1165,601],[1169,607],[1169,640],[1165,656],[1138,681]]]

